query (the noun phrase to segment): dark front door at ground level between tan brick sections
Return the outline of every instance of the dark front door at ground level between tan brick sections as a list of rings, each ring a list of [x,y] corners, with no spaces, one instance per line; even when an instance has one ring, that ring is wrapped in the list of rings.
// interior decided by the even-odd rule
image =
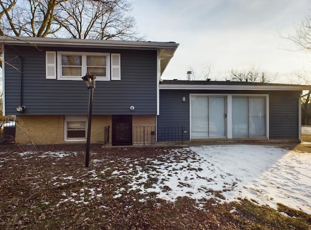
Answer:
[[[131,145],[132,115],[112,116],[112,145]]]

